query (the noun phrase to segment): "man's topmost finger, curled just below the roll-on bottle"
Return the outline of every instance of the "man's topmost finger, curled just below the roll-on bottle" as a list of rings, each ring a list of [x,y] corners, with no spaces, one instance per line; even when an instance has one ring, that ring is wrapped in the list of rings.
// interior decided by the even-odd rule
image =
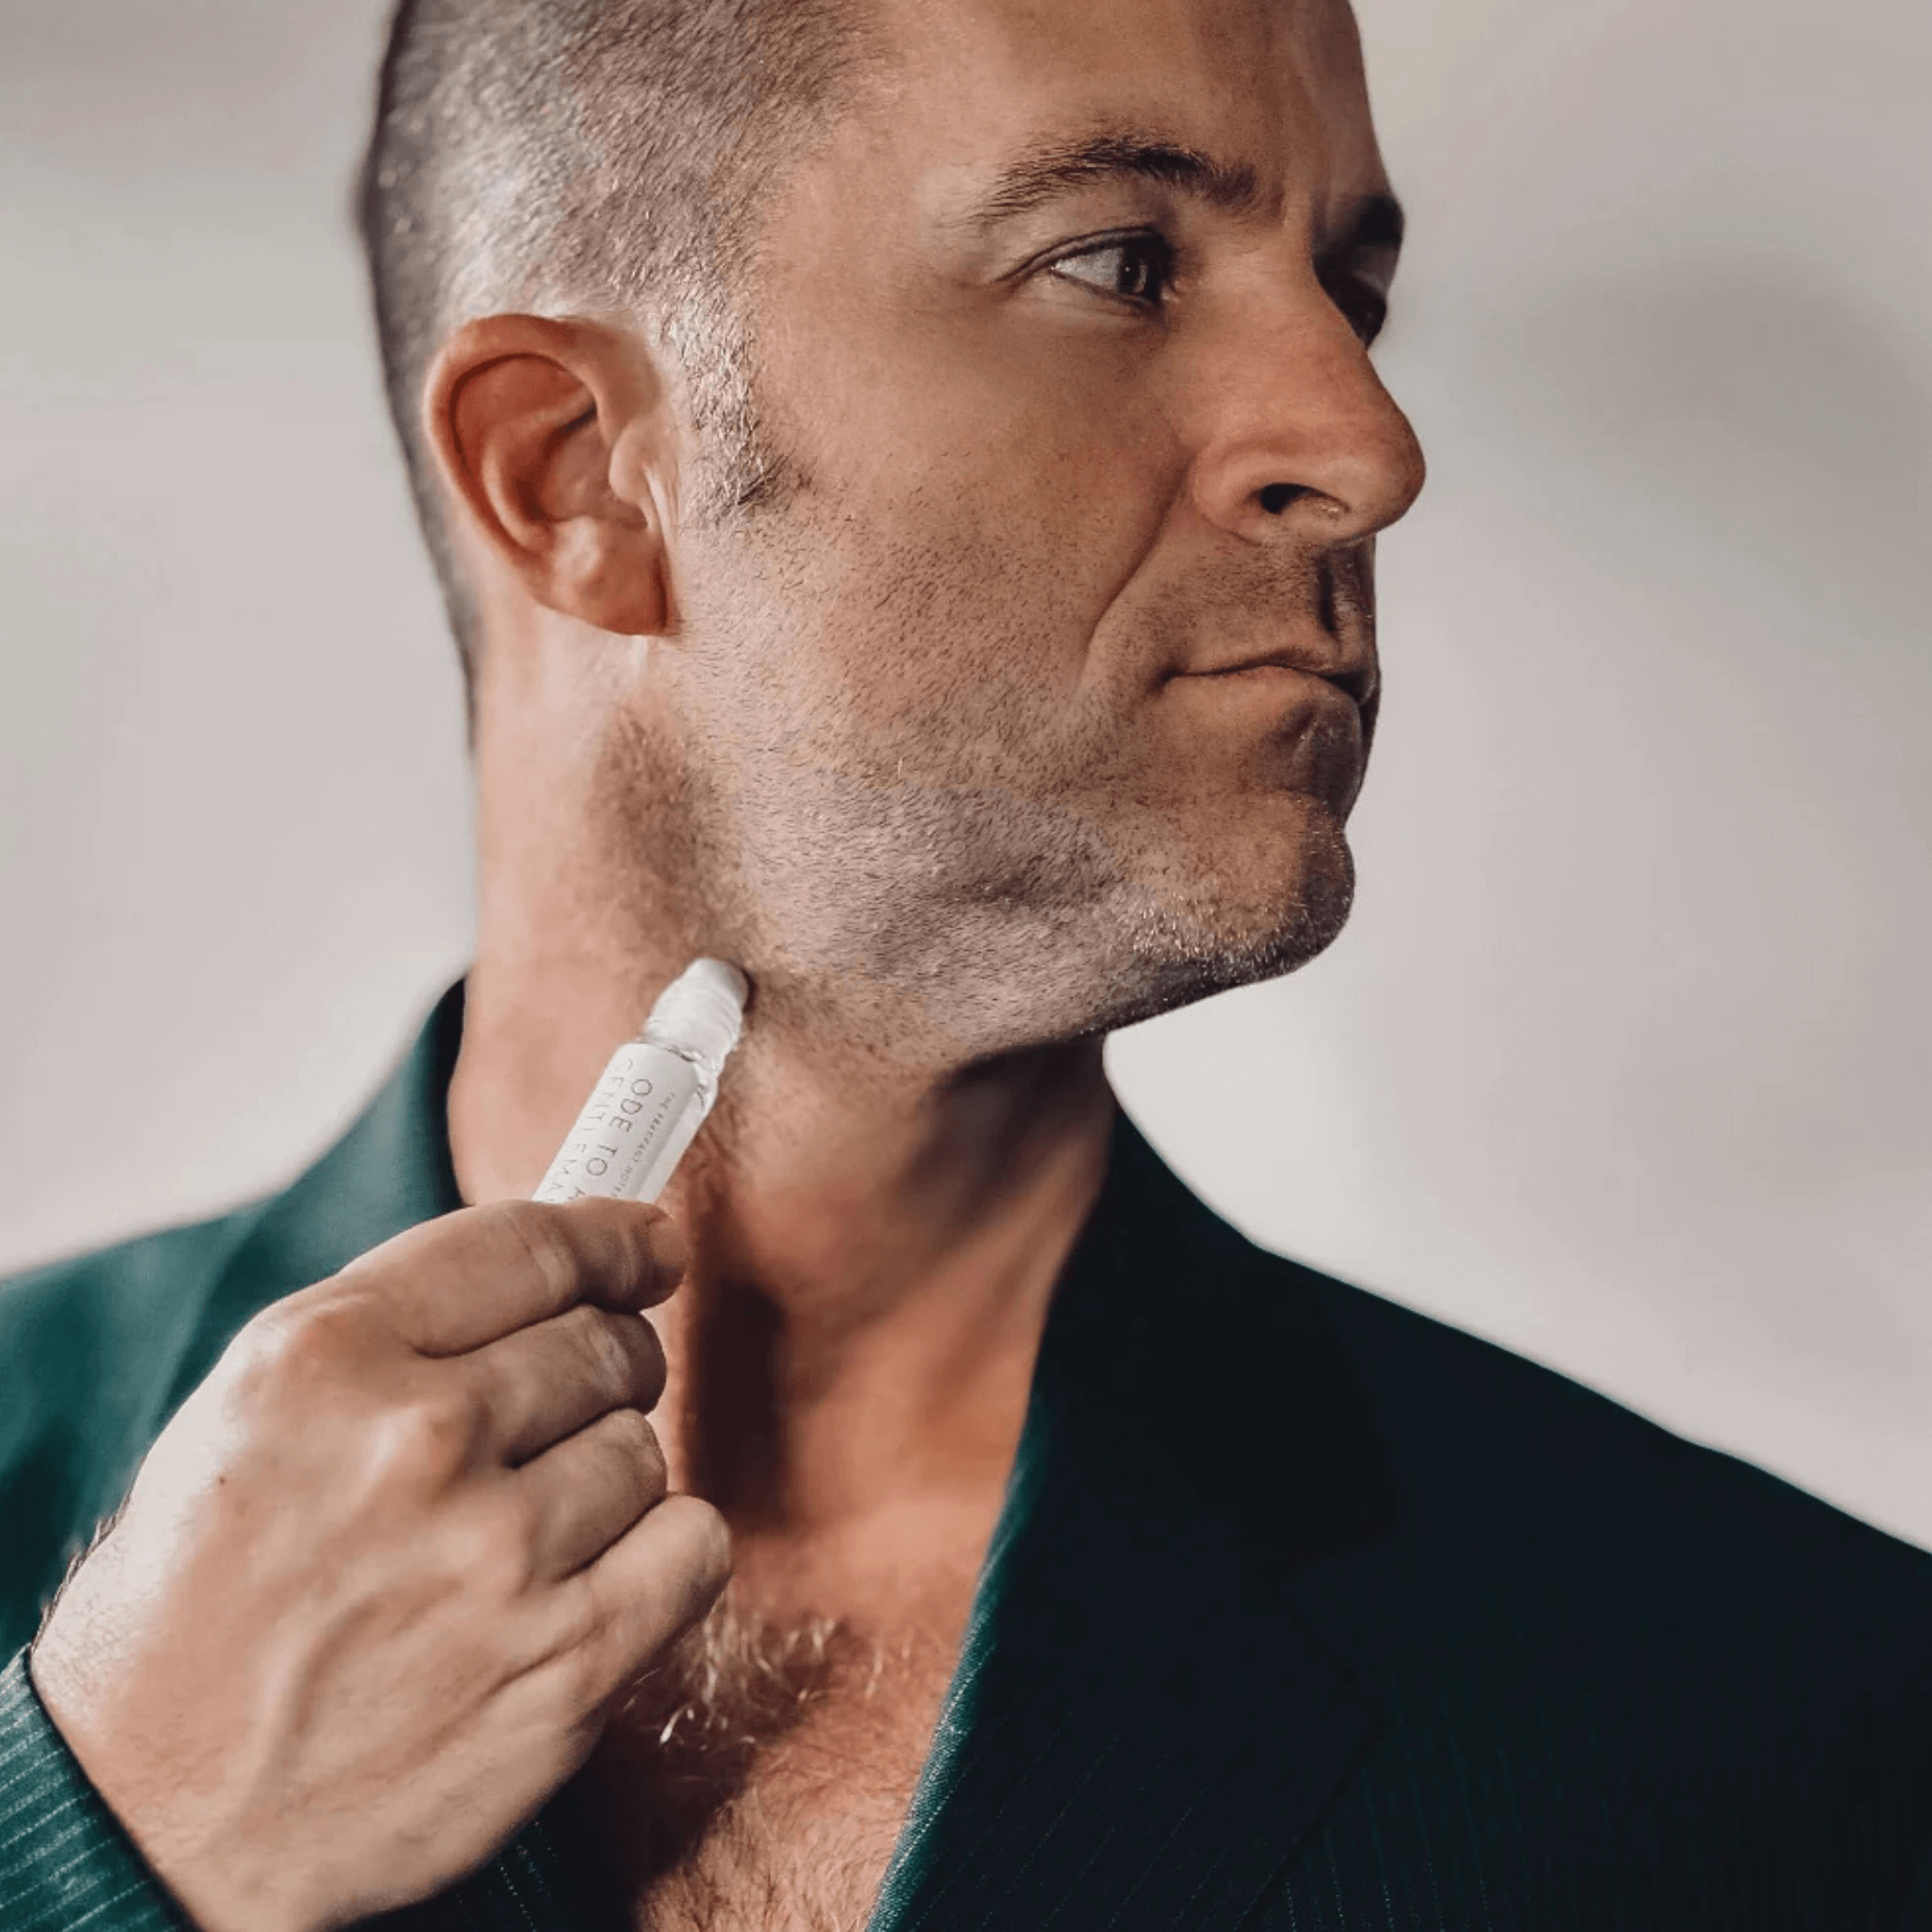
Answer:
[[[636,1310],[684,1275],[684,1236],[643,1202],[495,1202],[412,1227],[350,1262],[344,1291],[381,1302],[421,1354],[468,1354],[578,1302]]]

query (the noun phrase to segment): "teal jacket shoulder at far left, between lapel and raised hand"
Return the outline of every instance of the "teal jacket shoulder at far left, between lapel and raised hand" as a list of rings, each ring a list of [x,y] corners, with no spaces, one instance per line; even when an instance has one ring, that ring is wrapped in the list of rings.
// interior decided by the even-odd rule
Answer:
[[[0,1279],[0,1656],[180,1399],[209,1296],[259,1217],[242,1208]]]

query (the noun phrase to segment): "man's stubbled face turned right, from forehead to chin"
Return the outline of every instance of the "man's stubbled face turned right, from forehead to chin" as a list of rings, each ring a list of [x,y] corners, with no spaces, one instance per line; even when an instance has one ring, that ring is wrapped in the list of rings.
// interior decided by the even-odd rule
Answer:
[[[763,226],[784,481],[657,674],[753,972],[985,1053],[1341,927],[1422,464],[1341,0],[879,4]]]

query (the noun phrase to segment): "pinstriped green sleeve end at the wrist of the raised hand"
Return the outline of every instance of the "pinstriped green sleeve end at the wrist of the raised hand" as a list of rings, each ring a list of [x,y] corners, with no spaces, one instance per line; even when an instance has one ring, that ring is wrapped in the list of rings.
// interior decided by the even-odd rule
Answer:
[[[27,1681],[0,1671],[0,1924],[6,1932],[182,1932]]]

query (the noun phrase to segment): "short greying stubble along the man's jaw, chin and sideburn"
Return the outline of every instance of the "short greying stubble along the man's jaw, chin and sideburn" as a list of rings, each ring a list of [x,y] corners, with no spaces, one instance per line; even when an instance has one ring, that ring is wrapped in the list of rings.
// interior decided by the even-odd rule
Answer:
[[[850,512],[773,431],[744,332],[713,315],[701,334],[703,456],[684,516],[777,595],[728,597],[719,622],[699,614],[688,643],[707,701],[676,734],[639,719],[612,734],[611,858],[630,854],[641,916],[674,891],[684,923],[732,947],[761,985],[788,985],[802,1010],[956,1061],[1111,1032],[1293,972],[1333,943],[1354,867],[1321,808],[1293,885],[1233,877],[1213,856],[1190,860],[1175,831],[1142,819],[1122,838],[1097,823],[1105,788],[1092,777],[1082,790],[1026,757],[974,769],[937,728],[898,744],[827,717],[823,699],[802,723],[813,655],[786,639],[813,609],[823,529]],[[916,591],[931,558],[871,551],[867,568]],[[896,622],[925,628],[922,601],[904,595]],[[676,854],[674,881],[639,867],[647,852]]]

